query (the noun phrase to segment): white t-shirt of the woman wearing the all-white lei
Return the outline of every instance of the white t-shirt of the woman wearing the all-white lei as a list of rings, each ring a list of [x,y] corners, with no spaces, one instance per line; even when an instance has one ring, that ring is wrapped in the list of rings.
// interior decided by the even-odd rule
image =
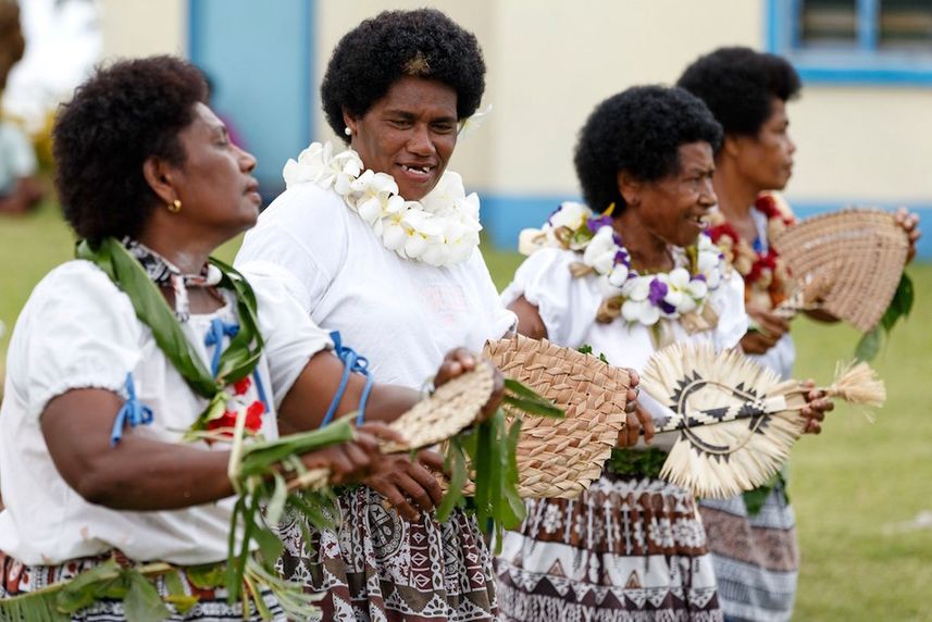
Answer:
[[[369,359],[380,383],[420,388],[448,350],[477,352],[514,325],[479,249],[444,268],[402,259],[336,192],[310,183],[259,216],[236,265],[282,279],[315,324]]]

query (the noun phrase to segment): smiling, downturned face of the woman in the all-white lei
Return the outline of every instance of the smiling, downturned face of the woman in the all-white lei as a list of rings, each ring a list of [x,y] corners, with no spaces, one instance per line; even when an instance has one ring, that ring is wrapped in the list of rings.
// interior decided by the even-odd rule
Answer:
[[[419,201],[437,185],[457,146],[457,91],[406,76],[361,117],[344,113],[344,121],[364,166],[392,175],[401,197]]]

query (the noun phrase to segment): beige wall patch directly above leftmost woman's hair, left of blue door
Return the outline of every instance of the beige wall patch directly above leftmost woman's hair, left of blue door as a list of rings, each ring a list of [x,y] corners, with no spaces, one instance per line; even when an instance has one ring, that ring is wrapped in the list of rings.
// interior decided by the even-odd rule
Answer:
[[[187,53],[187,0],[100,0],[103,58]]]

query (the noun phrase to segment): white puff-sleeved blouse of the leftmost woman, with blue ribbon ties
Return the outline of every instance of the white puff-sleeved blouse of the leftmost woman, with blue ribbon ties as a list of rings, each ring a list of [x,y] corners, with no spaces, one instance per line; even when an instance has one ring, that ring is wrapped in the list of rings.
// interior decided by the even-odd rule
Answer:
[[[272,412],[262,415],[261,433],[275,438],[277,405],[308,360],[332,344],[281,285],[261,278],[250,283],[265,339],[257,370],[273,402]],[[182,324],[207,369],[214,347],[204,346],[204,336],[214,318],[236,323],[232,296],[216,312],[191,315]],[[226,558],[233,498],[182,510],[117,511],[88,503],[57,471],[39,426],[46,405],[70,389],[88,387],[126,398],[127,373],[136,397],[153,412],[152,423],[132,434],[181,441],[207,400],[158,348],[129,298],[87,261],[50,272],[23,309],[8,352],[0,409],[0,488],[7,506],[0,512],[0,550],[27,564],[61,563],[114,547],[136,561],[200,564]],[[258,396],[254,382],[249,390]],[[228,448],[197,446],[204,451]]]

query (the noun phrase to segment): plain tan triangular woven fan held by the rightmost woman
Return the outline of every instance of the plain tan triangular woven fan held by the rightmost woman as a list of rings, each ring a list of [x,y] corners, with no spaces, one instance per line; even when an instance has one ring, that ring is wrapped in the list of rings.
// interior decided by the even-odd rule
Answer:
[[[893,214],[862,208],[806,219],[770,244],[797,284],[783,315],[824,309],[865,333],[890,307],[909,249]]]

